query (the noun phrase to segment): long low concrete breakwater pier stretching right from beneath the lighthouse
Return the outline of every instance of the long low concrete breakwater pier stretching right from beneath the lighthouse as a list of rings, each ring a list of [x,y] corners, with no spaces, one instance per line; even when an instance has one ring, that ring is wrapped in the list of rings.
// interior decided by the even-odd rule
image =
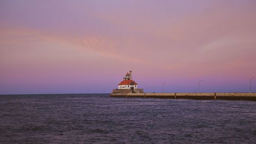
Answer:
[[[194,100],[248,100],[256,101],[256,92],[194,92],[194,93],[126,93],[112,92],[113,98],[158,98]]]

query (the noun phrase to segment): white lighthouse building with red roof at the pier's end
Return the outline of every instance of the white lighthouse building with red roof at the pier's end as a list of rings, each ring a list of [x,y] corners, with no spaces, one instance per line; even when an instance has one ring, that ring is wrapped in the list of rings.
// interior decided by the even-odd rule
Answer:
[[[138,88],[138,84],[132,80],[132,70],[130,70],[129,74],[127,73],[123,79],[124,80],[118,84],[118,89],[132,89],[133,90],[133,89]]]

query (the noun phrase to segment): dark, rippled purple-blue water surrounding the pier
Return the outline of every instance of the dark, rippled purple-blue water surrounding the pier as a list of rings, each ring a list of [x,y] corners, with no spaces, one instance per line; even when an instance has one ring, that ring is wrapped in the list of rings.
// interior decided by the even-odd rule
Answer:
[[[0,143],[256,143],[256,102],[0,95]]]

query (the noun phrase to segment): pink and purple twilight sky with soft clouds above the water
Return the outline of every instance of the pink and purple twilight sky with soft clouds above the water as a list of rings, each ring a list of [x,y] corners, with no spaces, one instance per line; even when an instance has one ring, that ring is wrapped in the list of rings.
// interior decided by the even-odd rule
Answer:
[[[248,92],[256,1],[0,1],[0,94]],[[256,92],[256,79],[251,80]]]

